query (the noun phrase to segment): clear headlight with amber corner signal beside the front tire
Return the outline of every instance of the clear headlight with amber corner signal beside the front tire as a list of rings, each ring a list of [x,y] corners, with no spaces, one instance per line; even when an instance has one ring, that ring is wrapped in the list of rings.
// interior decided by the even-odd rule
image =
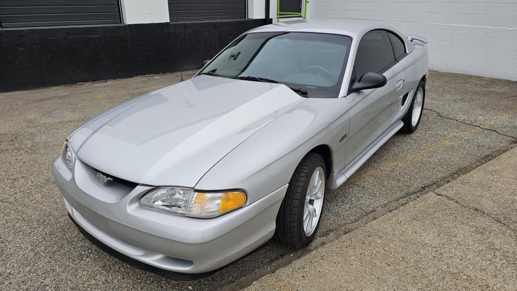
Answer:
[[[246,204],[240,191],[201,192],[189,188],[158,187],[140,199],[140,206],[182,216],[211,218]]]

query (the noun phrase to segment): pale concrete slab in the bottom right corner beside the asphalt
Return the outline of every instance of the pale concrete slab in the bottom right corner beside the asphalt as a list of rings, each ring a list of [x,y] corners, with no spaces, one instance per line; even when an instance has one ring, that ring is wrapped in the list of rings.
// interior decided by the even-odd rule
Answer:
[[[517,290],[517,148],[246,290],[421,289]]]

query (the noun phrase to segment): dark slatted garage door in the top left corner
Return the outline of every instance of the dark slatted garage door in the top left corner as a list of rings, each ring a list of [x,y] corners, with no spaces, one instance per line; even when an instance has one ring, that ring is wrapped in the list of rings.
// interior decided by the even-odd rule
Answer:
[[[118,0],[0,0],[2,27],[121,23]]]

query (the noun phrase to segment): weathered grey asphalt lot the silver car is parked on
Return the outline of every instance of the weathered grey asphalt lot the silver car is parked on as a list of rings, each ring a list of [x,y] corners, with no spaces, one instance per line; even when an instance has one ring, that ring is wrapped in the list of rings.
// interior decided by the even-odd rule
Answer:
[[[171,281],[87,241],[68,219],[50,169],[72,129],[177,81],[178,74],[167,74],[0,94],[0,289],[238,289],[517,140],[517,82],[433,71],[417,132],[394,136],[345,185],[326,194],[319,239],[309,250],[268,243],[208,278]]]

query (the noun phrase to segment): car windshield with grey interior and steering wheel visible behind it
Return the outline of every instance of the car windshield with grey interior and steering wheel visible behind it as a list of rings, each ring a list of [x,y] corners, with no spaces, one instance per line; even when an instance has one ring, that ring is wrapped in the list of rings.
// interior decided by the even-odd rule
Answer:
[[[351,42],[322,33],[250,33],[200,74],[278,82],[308,97],[338,97]]]

